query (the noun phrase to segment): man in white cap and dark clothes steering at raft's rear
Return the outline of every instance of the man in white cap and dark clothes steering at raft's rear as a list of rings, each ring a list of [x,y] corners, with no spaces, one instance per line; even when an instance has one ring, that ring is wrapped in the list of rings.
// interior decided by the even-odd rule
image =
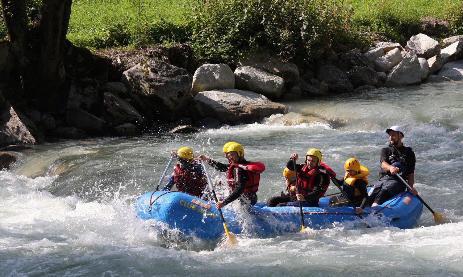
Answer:
[[[404,131],[400,126],[392,126],[386,130],[390,144],[384,147],[380,154],[381,173],[375,187],[370,190],[369,204],[374,207],[381,205],[394,194],[405,191],[405,184],[396,177],[399,174],[413,188],[415,176],[415,153],[411,147],[402,144]],[[416,189],[409,193],[418,194]]]

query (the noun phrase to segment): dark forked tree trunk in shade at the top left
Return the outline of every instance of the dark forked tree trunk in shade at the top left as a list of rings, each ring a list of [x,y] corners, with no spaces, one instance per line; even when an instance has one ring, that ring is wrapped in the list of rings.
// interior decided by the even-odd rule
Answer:
[[[56,111],[66,75],[63,52],[72,0],[42,0],[31,24],[27,22],[25,0],[1,3],[11,50],[19,61],[13,78],[24,85],[29,105]]]

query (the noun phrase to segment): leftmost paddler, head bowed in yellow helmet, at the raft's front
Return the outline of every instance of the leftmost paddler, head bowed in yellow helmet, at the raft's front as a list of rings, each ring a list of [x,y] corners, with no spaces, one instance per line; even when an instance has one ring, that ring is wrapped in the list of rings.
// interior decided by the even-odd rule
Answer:
[[[193,158],[191,148],[182,147],[178,151],[171,151],[170,156],[177,158],[177,164],[161,190],[170,191],[176,185],[179,192],[189,193],[199,198],[208,198],[204,193],[207,187],[206,175],[202,165]]]

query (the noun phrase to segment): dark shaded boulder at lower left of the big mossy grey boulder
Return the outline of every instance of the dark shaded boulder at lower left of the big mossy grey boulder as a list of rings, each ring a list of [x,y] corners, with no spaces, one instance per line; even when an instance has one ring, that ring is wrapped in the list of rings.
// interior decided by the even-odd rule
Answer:
[[[131,104],[111,92],[103,93],[103,106],[108,117],[107,121],[115,125],[132,123],[139,126],[143,122],[142,116]]]

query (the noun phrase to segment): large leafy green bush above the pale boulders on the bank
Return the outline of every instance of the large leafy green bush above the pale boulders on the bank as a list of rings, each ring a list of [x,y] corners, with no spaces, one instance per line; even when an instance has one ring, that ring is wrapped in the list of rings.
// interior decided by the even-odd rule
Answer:
[[[307,62],[344,42],[350,7],[332,0],[191,0],[195,54],[233,62],[269,48],[283,60]]]

